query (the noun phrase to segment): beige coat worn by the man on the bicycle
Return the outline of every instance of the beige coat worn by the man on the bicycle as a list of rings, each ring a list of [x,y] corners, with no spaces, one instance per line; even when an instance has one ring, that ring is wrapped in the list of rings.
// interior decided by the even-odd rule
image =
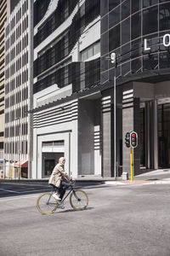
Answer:
[[[57,164],[54,167],[54,170],[51,174],[51,176],[49,177],[49,184],[54,184],[54,186],[56,187],[60,187],[60,183],[61,181],[65,181],[66,183],[69,183],[71,178],[69,177],[69,175],[65,172],[64,166],[61,164]]]

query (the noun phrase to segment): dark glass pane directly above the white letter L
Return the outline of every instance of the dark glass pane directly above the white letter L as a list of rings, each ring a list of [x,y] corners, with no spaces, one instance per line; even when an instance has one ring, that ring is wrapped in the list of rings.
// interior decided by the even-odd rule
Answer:
[[[157,6],[143,11],[143,35],[157,31]]]

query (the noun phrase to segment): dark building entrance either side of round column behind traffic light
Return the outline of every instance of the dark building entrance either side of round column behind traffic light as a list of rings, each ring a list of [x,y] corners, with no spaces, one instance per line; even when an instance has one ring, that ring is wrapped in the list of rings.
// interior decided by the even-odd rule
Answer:
[[[140,166],[154,169],[152,109],[140,108]],[[170,167],[170,103],[157,105],[158,167]]]

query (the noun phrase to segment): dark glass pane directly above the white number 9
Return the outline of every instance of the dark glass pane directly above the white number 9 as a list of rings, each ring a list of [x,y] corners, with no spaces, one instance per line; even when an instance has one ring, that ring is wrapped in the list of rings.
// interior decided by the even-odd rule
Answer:
[[[120,25],[113,27],[109,32],[109,51],[120,46]]]

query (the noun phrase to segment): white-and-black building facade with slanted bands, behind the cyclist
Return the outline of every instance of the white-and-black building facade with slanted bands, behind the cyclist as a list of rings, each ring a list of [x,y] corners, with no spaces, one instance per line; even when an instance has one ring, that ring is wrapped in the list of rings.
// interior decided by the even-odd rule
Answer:
[[[74,177],[101,175],[100,94],[87,96],[100,79],[99,9],[99,0],[34,2],[32,177],[48,177],[63,155]]]

